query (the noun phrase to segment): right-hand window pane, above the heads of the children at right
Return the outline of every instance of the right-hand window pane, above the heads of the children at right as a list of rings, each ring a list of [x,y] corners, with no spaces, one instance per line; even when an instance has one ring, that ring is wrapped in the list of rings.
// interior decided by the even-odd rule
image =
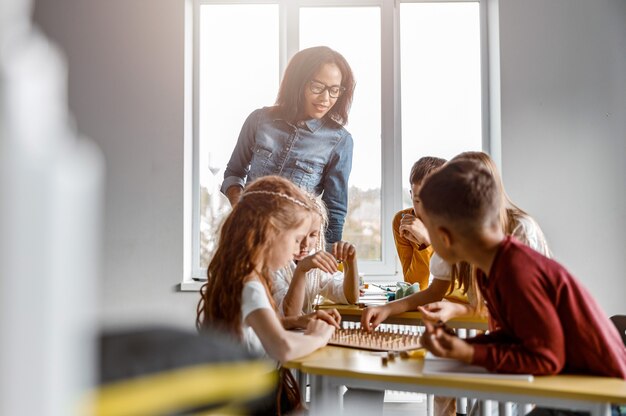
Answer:
[[[400,57],[403,207],[409,207],[417,159],[482,150],[479,4],[400,4]]]

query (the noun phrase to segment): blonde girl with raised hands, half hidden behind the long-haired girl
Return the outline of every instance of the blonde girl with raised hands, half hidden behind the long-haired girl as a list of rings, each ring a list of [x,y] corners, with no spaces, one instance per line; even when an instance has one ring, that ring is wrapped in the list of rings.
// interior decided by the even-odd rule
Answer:
[[[313,313],[318,296],[338,304],[355,304],[359,298],[356,248],[338,241],[333,244],[332,253],[326,252],[326,207],[319,197],[309,197],[314,209],[311,227],[294,256],[298,263],[291,261],[275,274],[274,300],[286,317]],[[338,270],[338,262],[343,263],[343,272]],[[331,314],[339,316],[334,310]]]

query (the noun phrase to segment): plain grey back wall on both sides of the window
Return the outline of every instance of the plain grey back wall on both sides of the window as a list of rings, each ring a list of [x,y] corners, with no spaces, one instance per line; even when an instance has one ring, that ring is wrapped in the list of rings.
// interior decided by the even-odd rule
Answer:
[[[182,278],[182,0],[38,1],[107,161],[102,315],[193,325]],[[511,197],[609,314],[626,312],[626,2],[501,0]]]

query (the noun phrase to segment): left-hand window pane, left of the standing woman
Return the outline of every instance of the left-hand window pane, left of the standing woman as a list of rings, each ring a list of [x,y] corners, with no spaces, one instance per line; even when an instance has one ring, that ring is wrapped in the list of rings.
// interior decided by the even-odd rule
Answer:
[[[278,91],[278,12],[276,4],[199,5],[196,274],[206,270],[230,210],[220,184],[239,129]]]

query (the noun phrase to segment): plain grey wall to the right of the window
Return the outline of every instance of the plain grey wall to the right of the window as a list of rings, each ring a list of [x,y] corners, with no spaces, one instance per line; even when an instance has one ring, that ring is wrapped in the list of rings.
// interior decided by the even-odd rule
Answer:
[[[500,0],[500,17],[507,191],[626,313],[626,2]]]

